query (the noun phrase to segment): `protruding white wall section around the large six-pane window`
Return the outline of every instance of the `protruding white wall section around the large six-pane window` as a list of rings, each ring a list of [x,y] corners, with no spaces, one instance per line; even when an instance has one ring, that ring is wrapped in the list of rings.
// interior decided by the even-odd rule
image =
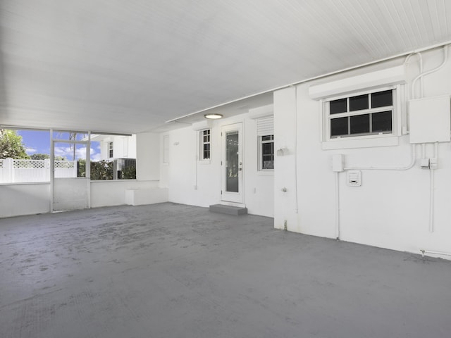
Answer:
[[[443,52],[428,51],[423,57],[424,70],[431,70],[440,65]],[[399,59],[397,64],[403,61]],[[383,66],[354,70],[352,75]],[[393,61],[386,66],[393,66]],[[418,74],[419,64],[414,57],[407,66],[409,91]],[[448,60],[437,73],[424,77],[424,96],[450,95],[450,75]],[[340,74],[321,82],[345,76]],[[345,166],[350,167],[403,167],[410,162],[412,148],[409,136],[404,135],[398,138],[397,146],[322,150],[321,103],[309,97],[309,86],[316,83],[281,89],[274,94],[275,146],[289,149],[287,156],[276,156],[274,223],[276,228],[283,228],[286,220],[290,231],[335,238],[333,154],[344,154]],[[405,101],[401,107],[406,109]],[[406,116],[402,125],[407,125]],[[420,168],[420,157],[421,146],[417,145],[417,161],[412,169],[362,170],[361,187],[347,185],[346,171],[339,174],[340,239],[413,253],[420,253],[420,249],[451,253],[451,144],[438,145],[433,232],[429,231],[430,170]],[[426,145],[426,157],[433,157],[433,144]],[[287,192],[281,192],[283,187],[287,187]]]

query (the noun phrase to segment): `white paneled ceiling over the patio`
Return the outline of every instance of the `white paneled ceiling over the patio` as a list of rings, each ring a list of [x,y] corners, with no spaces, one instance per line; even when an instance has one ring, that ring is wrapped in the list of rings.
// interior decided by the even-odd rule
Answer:
[[[450,40],[450,0],[0,0],[0,124],[156,130]]]

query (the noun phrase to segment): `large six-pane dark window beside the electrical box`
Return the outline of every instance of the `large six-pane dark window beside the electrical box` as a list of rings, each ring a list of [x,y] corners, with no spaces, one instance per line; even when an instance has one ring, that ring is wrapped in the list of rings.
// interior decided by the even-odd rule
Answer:
[[[328,139],[393,134],[395,89],[325,101]]]

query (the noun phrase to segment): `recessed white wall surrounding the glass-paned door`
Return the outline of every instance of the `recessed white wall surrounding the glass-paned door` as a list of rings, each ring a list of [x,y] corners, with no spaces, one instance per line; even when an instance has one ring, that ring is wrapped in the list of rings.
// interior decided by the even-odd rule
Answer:
[[[199,130],[189,126],[161,134],[161,187],[168,187],[169,201],[175,203],[203,207],[220,204],[221,126],[232,123],[243,125],[244,204],[249,213],[272,217],[273,172],[257,170],[257,122],[249,113],[211,122],[211,159],[207,162],[197,161]],[[163,159],[165,137],[167,163]]]

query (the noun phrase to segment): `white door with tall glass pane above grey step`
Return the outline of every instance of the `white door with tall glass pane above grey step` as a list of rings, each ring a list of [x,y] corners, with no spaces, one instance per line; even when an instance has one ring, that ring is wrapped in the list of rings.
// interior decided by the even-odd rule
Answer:
[[[242,123],[223,126],[221,137],[221,200],[243,203]]]

